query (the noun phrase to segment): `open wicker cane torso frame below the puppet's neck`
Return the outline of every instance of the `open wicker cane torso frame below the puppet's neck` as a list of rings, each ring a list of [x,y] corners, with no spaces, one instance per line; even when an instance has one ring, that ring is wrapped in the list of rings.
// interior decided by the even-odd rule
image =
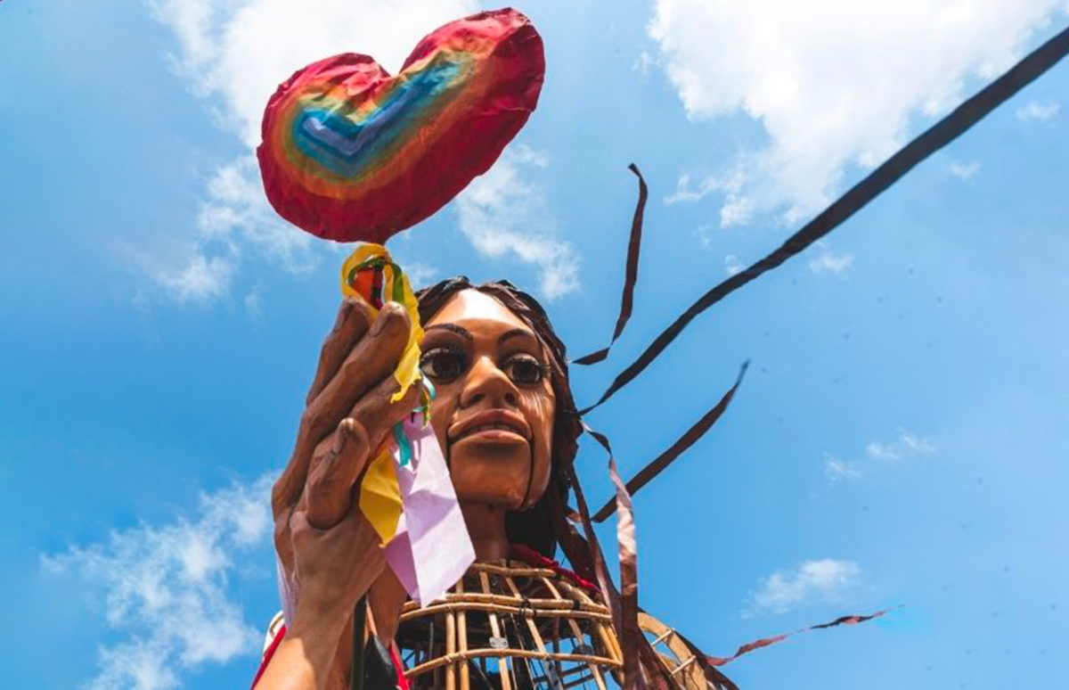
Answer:
[[[679,688],[707,687],[669,628],[646,614],[640,623]],[[444,599],[406,603],[397,643],[412,690],[608,690],[623,668],[601,598],[516,561],[477,563]]]

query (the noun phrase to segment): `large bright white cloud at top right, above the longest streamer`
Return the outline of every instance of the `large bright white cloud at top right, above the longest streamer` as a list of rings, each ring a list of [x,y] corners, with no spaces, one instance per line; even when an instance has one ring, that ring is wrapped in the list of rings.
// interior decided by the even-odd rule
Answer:
[[[688,181],[676,200],[718,191],[723,225],[773,211],[797,223],[834,198],[850,166],[881,162],[904,142],[912,119],[944,112],[972,77],[1007,67],[1064,7],[1064,0],[656,0],[649,35],[687,116],[744,113],[768,134],[764,148]],[[726,179],[735,183],[724,186]]]

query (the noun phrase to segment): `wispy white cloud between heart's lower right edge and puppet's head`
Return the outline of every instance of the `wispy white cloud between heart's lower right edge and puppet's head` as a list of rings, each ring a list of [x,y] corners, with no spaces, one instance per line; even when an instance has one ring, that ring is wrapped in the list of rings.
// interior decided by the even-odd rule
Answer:
[[[461,231],[476,250],[491,259],[512,255],[539,272],[539,290],[549,300],[579,287],[579,261],[572,245],[555,233],[542,186],[529,180],[530,168],[544,168],[544,154],[528,147],[506,149],[482,177],[455,201]]]

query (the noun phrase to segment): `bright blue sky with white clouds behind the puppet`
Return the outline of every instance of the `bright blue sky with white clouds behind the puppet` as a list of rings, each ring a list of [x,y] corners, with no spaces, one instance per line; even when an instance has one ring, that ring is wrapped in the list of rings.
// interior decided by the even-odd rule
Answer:
[[[424,281],[529,287],[585,353],[615,320],[637,163],[635,318],[574,373],[580,402],[1067,21],[1050,0],[626,4],[517,5],[546,43],[538,111],[393,241]],[[344,256],[264,206],[259,114],[313,59],[394,70],[477,7],[0,3],[5,687],[251,677],[277,610],[265,477]],[[710,654],[907,604],[745,657],[727,668],[741,687],[1069,684],[1067,88],[1059,65],[591,415],[626,475],[753,362],[722,423],[636,496],[644,605]],[[600,503],[603,457],[585,446],[579,465]]]

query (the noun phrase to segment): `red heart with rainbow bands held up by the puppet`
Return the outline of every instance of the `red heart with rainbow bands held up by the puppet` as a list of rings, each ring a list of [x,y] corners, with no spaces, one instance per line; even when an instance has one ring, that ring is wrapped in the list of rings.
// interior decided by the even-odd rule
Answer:
[[[383,243],[485,172],[538,104],[542,39],[510,9],[425,36],[391,77],[343,53],[282,83],[257,149],[275,210],[312,234]]]

